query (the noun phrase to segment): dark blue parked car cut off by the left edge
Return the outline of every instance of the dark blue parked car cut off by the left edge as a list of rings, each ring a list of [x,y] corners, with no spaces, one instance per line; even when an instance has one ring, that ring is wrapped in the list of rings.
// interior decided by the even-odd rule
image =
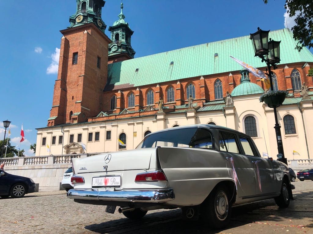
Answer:
[[[0,170],[0,197],[19,198],[35,192],[35,182],[27,177],[11,175]]]

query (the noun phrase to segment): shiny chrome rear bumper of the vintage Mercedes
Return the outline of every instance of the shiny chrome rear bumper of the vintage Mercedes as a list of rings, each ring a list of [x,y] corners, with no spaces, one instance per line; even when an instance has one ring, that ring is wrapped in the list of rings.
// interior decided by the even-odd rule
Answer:
[[[159,190],[98,191],[70,189],[68,198],[116,202],[167,202],[175,198],[172,188]]]

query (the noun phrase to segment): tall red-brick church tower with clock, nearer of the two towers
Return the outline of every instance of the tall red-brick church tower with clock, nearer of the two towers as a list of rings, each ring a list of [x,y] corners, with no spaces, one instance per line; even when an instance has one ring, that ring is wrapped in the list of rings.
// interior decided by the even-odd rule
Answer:
[[[84,122],[101,111],[107,82],[108,44],[103,0],[77,0],[70,26],[61,30],[58,79],[48,126]]]

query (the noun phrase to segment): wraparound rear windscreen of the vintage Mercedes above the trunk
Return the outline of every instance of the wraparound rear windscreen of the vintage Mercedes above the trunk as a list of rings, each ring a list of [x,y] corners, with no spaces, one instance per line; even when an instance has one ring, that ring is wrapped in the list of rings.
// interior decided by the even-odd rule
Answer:
[[[148,135],[136,149],[157,146],[213,149],[212,139],[212,134],[207,129],[173,128],[166,132]]]

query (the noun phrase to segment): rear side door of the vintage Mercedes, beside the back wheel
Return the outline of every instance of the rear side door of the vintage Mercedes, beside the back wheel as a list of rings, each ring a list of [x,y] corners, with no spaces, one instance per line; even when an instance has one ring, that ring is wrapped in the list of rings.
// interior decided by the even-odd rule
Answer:
[[[238,139],[234,133],[219,131],[220,151],[223,151],[229,168],[234,167],[238,177],[238,197],[256,195],[256,176],[251,160],[246,155],[240,154]],[[233,165],[232,165],[232,159]],[[233,177],[233,175],[231,175]]]

